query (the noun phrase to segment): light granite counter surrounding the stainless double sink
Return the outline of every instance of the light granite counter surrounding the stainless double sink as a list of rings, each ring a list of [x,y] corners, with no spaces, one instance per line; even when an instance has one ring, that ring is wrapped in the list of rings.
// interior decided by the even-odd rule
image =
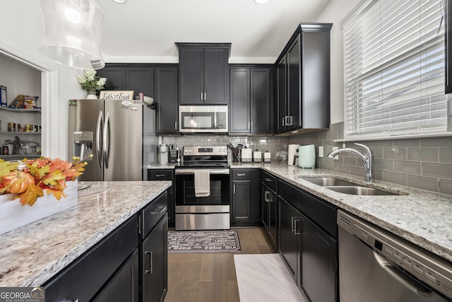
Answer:
[[[335,206],[452,261],[452,196],[323,169],[281,163],[232,163],[231,168],[261,168]],[[335,177],[400,195],[357,196],[328,190],[299,177]]]

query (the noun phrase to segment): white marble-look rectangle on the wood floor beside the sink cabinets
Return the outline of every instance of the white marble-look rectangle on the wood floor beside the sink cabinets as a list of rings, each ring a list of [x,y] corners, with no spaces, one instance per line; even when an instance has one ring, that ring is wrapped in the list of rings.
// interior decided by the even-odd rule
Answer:
[[[240,302],[306,302],[278,254],[234,255]]]

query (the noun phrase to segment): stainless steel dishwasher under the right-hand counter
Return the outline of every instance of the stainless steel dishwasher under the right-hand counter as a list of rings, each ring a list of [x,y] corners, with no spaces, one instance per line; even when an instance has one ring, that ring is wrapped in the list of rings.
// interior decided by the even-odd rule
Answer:
[[[341,302],[451,301],[452,263],[338,211]]]

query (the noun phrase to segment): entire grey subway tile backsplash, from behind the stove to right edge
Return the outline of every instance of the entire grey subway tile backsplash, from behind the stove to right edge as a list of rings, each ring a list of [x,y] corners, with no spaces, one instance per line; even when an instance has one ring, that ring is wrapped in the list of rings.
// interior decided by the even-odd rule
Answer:
[[[327,158],[333,146],[343,147],[333,142],[344,136],[343,122],[331,124],[329,129],[290,137],[230,137],[227,135],[204,136],[185,135],[162,137],[163,144],[177,146],[243,144],[258,151],[270,151],[272,161],[287,163],[289,144],[315,144],[316,167],[333,170],[364,178],[362,161],[350,153],[340,153],[339,160]],[[374,152],[375,179],[393,182],[424,190],[452,194],[452,138],[435,137],[422,139],[395,139],[379,141],[356,141],[369,146]],[[319,146],[323,146],[324,157],[319,158]],[[352,142],[347,147],[357,148]],[[364,152],[362,149],[359,151]],[[282,159],[282,157],[284,157]],[[278,157],[278,158],[276,158]]]

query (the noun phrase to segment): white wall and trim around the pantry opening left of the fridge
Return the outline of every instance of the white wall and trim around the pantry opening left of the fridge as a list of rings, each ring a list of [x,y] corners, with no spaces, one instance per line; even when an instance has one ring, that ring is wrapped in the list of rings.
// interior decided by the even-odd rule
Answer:
[[[48,79],[54,78],[54,87],[50,87],[49,95],[42,93],[41,105],[42,153],[52,158],[67,157],[68,132],[68,100],[83,98],[75,75],[81,74],[78,69],[71,69],[49,62],[38,51],[43,33],[40,4],[37,0],[14,0],[1,2],[2,16],[0,18],[0,52],[14,54],[18,59],[30,62],[33,68],[47,71],[42,74],[42,85]],[[4,66],[0,66],[2,76],[8,74]],[[46,76],[47,74],[47,76]],[[73,80],[73,81],[71,81]],[[20,91],[21,88],[16,88]],[[9,96],[9,95],[8,95]],[[44,127],[45,126],[45,127]]]

